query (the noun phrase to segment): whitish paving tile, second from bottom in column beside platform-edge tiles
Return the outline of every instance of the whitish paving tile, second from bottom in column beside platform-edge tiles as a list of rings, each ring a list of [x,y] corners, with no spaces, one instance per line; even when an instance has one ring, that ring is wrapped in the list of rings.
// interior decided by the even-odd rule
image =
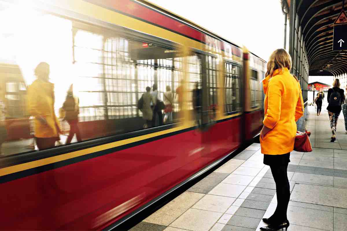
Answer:
[[[192,208],[207,210],[212,212],[224,213],[230,207],[236,198],[216,196],[216,195],[205,195],[200,199]]]

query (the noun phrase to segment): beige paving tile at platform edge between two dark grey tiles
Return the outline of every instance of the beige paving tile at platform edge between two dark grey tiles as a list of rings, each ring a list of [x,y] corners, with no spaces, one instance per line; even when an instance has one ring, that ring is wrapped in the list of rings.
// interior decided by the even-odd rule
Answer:
[[[203,196],[204,194],[201,193],[184,192],[143,221],[160,225],[169,225]]]

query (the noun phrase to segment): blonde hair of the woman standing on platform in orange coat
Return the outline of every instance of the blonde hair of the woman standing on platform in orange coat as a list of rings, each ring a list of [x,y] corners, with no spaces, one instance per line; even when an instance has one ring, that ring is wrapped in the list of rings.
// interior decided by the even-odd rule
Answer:
[[[266,76],[270,75],[271,78],[275,70],[281,69],[283,71],[283,68],[291,69],[291,57],[286,50],[281,48],[272,52],[270,55]]]

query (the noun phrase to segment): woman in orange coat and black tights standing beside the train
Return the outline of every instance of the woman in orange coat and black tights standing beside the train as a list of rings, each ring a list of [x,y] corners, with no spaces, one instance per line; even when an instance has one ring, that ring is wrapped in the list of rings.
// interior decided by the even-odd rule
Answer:
[[[276,183],[277,208],[271,217],[263,219],[269,226],[261,230],[279,230],[289,226],[287,167],[290,152],[294,149],[296,121],[303,115],[304,107],[300,84],[289,72],[291,58],[286,50],[274,51],[267,68],[267,77],[263,80],[265,118],[260,144],[264,164],[270,166]]]

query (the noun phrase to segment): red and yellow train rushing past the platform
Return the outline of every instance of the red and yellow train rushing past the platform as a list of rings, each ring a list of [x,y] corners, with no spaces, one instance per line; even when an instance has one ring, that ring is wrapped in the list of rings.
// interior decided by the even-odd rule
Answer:
[[[2,144],[0,230],[111,229],[261,130],[265,61],[168,10],[144,0],[0,0],[1,17],[1,47],[16,61],[0,54],[1,85],[20,97],[0,96],[5,124],[19,127],[6,125]],[[25,95],[42,61],[57,115],[74,84],[82,141],[28,150]],[[17,77],[5,82],[9,70]],[[167,86],[175,95],[172,120],[144,128],[137,102],[154,84],[161,100]]]

